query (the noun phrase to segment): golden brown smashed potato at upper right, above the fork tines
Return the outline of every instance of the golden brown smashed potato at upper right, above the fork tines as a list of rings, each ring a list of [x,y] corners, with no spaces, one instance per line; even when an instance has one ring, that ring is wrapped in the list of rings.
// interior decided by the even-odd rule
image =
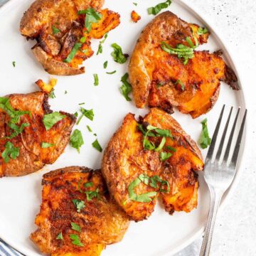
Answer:
[[[238,90],[235,73],[220,57],[220,51],[194,51],[193,58],[169,54],[162,42],[171,48],[178,44],[194,46],[206,43],[208,33],[198,35],[196,24],[186,23],[170,11],[156,16],[149,23],[134,48],[129,64],[134,101],[139,108],[161,107],[169,113],[173,107],[193,118],[208,112],[218,100],[220,81]],[[188,39],[187,39],[188,38]]]

